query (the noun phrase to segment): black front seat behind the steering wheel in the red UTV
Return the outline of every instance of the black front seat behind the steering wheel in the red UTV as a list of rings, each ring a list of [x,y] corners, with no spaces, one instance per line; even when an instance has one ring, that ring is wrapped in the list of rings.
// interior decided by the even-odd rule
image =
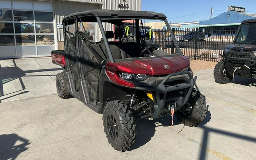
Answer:
[[[140,45],[136,42],[120,43],[119,48],[122,59],[139,57],[142,51]]]

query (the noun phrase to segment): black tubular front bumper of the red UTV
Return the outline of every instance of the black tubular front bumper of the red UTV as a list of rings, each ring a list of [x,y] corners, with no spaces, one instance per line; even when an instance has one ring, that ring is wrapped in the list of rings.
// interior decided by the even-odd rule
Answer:
[[[175,76],[187,75],[189,77],[188,83],[166,84],[166,82]],[[181,71],[177,73],[171,73],[167,75],[157,87],[135,87],[137,90],[143,90],[147,93],[152,93],[154,102],[152,105],[153,112],[152,118],[159,118],[170,113],[170,107],[173,106],[174,110],[180,109],[187,103],[193,87],[195,85],[196,78],[193,78],[192,72]]]

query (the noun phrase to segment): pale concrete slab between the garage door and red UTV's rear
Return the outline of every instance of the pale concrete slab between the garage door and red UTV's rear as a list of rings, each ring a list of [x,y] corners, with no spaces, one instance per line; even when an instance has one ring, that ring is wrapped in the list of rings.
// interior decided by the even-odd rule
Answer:
[[[61,70],[50,57],[0,60],[0,101],[55,94]]]

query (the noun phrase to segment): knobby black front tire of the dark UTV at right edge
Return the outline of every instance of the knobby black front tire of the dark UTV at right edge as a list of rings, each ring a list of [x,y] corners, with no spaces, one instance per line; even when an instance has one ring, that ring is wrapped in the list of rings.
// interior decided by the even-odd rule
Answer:
[[[214,68],[214,79],[215,82],[220,84],[227,84],[230,82],[230,76],[226,73],[224,61],[220,61],[216,64]]]

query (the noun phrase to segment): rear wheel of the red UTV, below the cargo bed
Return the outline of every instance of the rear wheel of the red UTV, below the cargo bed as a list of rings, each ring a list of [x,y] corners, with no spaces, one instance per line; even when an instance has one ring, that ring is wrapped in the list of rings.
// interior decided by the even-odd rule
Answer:
[[[71,98],[72,96],[67,91],[67,85],[64,82],[63,73],[58,73],[56,76],[56,88],[58,96],[62,99]]]

